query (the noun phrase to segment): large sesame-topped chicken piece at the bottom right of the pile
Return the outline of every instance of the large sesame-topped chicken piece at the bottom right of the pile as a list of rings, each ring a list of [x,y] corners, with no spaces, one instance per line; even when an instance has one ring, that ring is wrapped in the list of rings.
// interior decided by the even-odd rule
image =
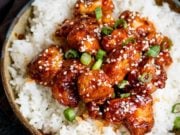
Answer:
[[[110,100],[104,113],[107,121],[125,124],[132,135],[144,135],[154,124],[150,95],[141,94]]]

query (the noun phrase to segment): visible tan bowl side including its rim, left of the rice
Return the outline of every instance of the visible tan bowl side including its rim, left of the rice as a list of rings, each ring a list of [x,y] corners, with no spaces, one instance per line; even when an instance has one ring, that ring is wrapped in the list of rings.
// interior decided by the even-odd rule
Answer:
[[[12,23],[11,27],[9,28],[9,31],[6,36],[6,40],[3,45],[2,49],[2,56],[1,56],[1,76],[2,76],[2,82],[4,86],[4,90],[6,93],[6,96],[8,98],[8,101],[17,115],[17,117],[20,119],[20,121],[24,124],[24,126],[35,135],[42,135],[42,133],[38,130],[36,130],[33,126],[31,126],[27,119],[23,117],[21,112],[19,111],[19,106],[16,104],[15,99],[16,95],[15,92],[10,85],[11,75],[8,71],[8,66],[11,64],[11,59],[9,55],[8,48],[10,48],[12,41],[17,39],[17,35],[19,34],[25,34],[25,28],[28,24],[28,19],[31,16],[32,13],[32,7],[31,3],[28,3],[22,11],[18,14],[18,16],[15,18],[14,22]]]

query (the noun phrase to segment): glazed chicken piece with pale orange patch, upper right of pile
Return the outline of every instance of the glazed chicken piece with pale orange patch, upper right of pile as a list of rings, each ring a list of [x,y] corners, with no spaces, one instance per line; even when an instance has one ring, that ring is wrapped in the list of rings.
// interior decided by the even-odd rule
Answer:
[[[136,31],[138,37],[145,37],[148,34],[155,33],[156,29],[152,22],[147,18],[140,17],[138,12],[124,11],[121,13],[121,19],[125,19],[131,27]]]

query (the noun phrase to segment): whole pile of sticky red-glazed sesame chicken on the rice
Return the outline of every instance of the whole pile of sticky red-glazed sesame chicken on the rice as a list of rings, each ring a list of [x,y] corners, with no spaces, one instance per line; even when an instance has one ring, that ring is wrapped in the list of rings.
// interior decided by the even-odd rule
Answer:
[[[59,103],[78,107],[83,102],[90,117],[124,124],[132,135],[143,135],[153,126],[151,94],[165,87],[172,43],[139,13],[124,11],[115,20],[113,10],[111,0],[78,0],[74,17],[55,32],[63,45],[50,45],[41,52],[29,63],[28,74],[51,87]],[[112,29],[103,33],[104,27]],[[150,50],[153,47],[160,48],[158,55]],[[102,49],[106,56],[101,68],[93,70],[95,59],[83,65],[79,58],[64,58],[70,49],[92,57]],[[123,87],[122,82],[126,82]]]

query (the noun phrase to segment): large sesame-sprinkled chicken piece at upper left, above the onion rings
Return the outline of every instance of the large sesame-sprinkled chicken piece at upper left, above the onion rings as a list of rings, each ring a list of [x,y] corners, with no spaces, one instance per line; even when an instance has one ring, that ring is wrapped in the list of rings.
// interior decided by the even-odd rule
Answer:
[[[92,17],[79,17],[64,21],[56,31],[56,36],[66,38],[68,44],[65,46],[79,52],[94,54],[100,48],[99,24]]]

